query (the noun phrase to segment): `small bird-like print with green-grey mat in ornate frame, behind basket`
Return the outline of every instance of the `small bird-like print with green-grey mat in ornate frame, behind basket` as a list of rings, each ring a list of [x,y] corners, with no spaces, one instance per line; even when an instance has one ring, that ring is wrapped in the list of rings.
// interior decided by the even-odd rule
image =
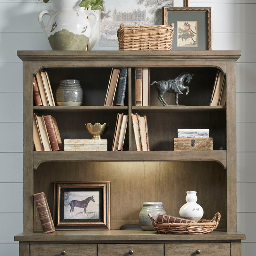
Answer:
[[[163,25],[174,23],[172,50],[212,50],[211,7],[163,7]]]

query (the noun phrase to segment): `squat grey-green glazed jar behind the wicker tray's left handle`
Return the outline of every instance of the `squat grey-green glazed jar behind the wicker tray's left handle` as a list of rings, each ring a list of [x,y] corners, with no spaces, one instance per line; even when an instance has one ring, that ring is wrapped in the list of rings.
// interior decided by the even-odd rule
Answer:
[[[157,217],[157,213],[166,214],[165,209],[163,208],[162,202],[146,202],[143,203],[143,207],[139,213],[139,223],[140,227],[146,231],[154,231],[152,226],[152,221],[148,217],[148,214],[155,219]]]

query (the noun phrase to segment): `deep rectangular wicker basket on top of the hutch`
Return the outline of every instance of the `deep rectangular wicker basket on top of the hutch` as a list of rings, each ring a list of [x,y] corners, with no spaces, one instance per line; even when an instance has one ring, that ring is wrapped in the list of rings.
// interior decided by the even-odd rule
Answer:
[[[129,26],[117,30],[119,50],[172,50],[173,26]]]

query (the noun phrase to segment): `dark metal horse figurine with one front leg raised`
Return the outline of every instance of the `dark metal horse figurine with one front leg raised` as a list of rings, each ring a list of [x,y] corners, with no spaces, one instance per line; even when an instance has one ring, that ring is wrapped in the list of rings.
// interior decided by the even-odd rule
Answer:
[[[174,79],[161,80],[158,82],[154,81],[150,85],[153,85],[153,84],[156,85],[156,89],[158,92],[158,99],[163,104],[163,106],[168,106],[168,104],[163,99],[163,95],[166,92],[175,93],[176,105],[178,106],[179,105],[178,104],[178,95],[183,94],[182,91],[184,91],[185,89],[187,89],[186,95],[188,95],[188,92],[189,92],[188,86],[184,86],[184,82],[189,84],[193,75],[189,74],[188,72],[183,72]]]

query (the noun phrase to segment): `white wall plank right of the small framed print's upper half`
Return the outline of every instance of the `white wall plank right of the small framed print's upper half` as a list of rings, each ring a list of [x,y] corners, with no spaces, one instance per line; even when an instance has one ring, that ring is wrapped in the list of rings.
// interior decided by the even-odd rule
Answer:
[[[227,1],[211,1],[205,3],[193,3],[189,6],[212,7],[212,32],[213,33],[256,33],[255,26],[248,24],[256,23],[256,4],[240,1],[230,4]]]

